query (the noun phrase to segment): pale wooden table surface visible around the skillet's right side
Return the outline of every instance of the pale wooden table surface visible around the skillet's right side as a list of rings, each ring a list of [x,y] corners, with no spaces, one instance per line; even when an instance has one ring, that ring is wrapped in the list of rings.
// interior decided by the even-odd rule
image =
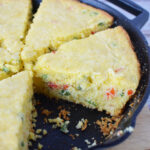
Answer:
[[[100,1],[109,4],[105,0]],[[134,0],[134,2],[150,12],[150,0]],[[129,18],[133,18],[132,15],[121,9],[119,9],[119,11],[126,14]],[[150,45],[150,19],[141,31]],[[109,148],[109,150],[150,150],[150,108],[148,107],[148,104],[150,105],[150,97],[142,112],[137,117],[136,127],[132,135],[120,145]]]

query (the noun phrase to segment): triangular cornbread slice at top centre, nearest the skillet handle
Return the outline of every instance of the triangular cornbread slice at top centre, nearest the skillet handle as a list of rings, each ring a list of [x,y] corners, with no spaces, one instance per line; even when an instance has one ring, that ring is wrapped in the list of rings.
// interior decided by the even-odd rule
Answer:
[[[22,59],[27,69],[40,55],[61,44],[111,26],[113,17],[76,0],[43,0],[25,40]]]

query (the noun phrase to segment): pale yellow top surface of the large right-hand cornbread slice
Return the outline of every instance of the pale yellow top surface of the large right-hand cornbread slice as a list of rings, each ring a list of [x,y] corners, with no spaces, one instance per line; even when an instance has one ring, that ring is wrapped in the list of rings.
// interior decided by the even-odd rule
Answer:
[[[135,81],[140,78],[136,54],[128,34],[120,26],[98,32],[86,39],[63,44],[56,53],[39,57],[35,68],[37,67],[45,72],[91,72],[101,76],[122,68],[123,71],[114,75],[123,75],[129,79],[133,76]]]

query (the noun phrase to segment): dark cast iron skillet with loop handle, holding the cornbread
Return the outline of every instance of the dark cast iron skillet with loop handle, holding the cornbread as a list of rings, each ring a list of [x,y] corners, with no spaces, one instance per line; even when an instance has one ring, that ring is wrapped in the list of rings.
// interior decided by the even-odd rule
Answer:
[[[88,149],[88,146],[84,140],[88,139],[92,143],[94,141],[93,137],[98,143],[92,149],[103,149],[124,141],[130,135],[130,132],[126,131],[121,136],[117,136],[118,131],[125,130],[128,127],[135,127],[136,116],[143,108],[146,100],[148,99],[150,91],[150,49],[148,47],[147,41],[140,32],[140,28],[148,20],[149,14],[146,10],[130,0],[109,1],[134,14],[136,16],[135,19],[129,20],[120,12],[97,0],[81,0],[81,2],[83,3],[87,3],[96,8],[103,9],[110,13],[112,16],[114,16],[115,23],[113,27],[121,25],[127,30],[130,35],[131,41],[135,47],[135,52],[137,54],[139,62],[141,64],[140,84],[138,86],[137,92],[135,93],[133,98],[127,103],[124,109],[123,119],[121,120],[116,132],[106,139],[102,136],[99,128],[95,124],[93,124],[94,121],[100,119],[101,117],[110,117],[109,115],[106,115],[105,112],[89,110],[82,107],[81,105],[75,105],[66,101],[56,102],[55,100],[49,100],[42,95],[35,94],[35,98],[41,101],[41,105],[36,106],[39,113],[36,128],[47,129],[49,134],[46,135],[44,138],[38,140],[37,142],[33,142],[33,145],[30,148],[31,150],[37,148],[38,142],[44,145],[43,150],[69,150],[74,146],[81,148],[82,150],[86,150]],[[40,0],[33,0],[34,12],[37,10],[39,3]],[[133,107],[130,107],[131,103],[134,104]],[[50,116],[51,118],[53,118],[58,116],[57,107],[60,105],[62,105],[63,108],[71,112],[71,120],[69,124],[70,134],[77,133],[80,135],[75,140],[73,140],[70,136],[60,132],[59,129],[52,129],[52,125],[44,123],[44,115],[41,114],[42,109],[45,108],[54,111],[54,113]],[[129,111],[131,112],[130,115],[128,115]],[[77,122],[81,118],[87,118],[90,123],[90,125],[84,132],[75,129]]]

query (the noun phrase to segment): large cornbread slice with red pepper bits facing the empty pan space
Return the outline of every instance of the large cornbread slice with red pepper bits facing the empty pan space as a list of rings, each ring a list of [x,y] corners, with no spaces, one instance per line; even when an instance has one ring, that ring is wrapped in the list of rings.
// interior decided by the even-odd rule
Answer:
[[[39,57],[34,71],[38,92],[112,116],[121,113],[140,80],[139,62],[121,26],[60,46]]]

